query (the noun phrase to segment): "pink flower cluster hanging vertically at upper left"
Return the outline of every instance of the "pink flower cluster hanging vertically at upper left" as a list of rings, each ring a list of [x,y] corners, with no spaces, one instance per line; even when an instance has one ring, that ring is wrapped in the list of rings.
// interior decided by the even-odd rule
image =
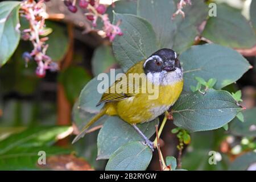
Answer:
[[[58,65],[51,60],[51,57],[46,55],[48,38],[44,35],[48,34],[45,23],[46,11],[44,9],[44,1],[35,2],[33,0],[24,0],[20,5],[20,16],[26,18],[30,25],[29,28],[22,30],[22,39],[31,41],[34,49],[31,52],[24,52],[23,59],[26,61],[35,60],[38,64],[36,75],[44,77],[46,70],[56,71]]]

